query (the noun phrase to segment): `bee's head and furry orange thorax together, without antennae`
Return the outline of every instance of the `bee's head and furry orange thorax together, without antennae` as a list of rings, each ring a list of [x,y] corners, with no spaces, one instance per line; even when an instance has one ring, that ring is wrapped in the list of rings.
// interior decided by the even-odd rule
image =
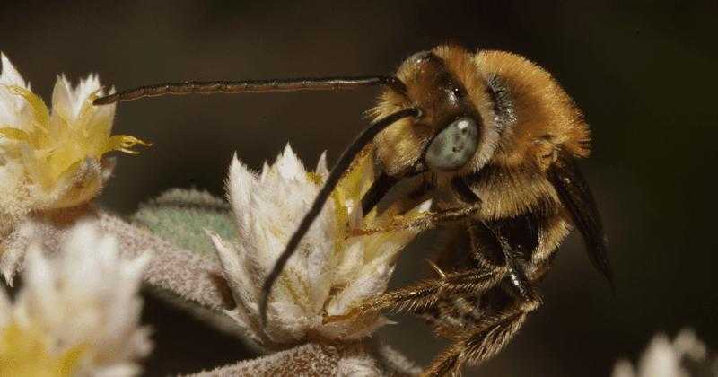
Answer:
[[[451,176],[489,162],[547,166],[554,148],[588,153],[580,112],[523,57],[442,46],[407,58],[396,76],[406,92],[383,92],[375,116],[408,107],[422,115],[376,137],[377,157],[391,176],[424,170]]]

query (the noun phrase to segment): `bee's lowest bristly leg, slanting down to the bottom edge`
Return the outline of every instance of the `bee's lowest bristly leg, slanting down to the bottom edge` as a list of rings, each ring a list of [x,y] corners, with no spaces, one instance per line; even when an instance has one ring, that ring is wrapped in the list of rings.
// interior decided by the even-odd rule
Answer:
[[[425,376],[458,376],[463,364],[481,364],[496,355],[521,329],[530,311],[541,304],[533,286],[532,300],[517,299],[509,308],[486,315],[454,338],[454,343],[433,360]]]

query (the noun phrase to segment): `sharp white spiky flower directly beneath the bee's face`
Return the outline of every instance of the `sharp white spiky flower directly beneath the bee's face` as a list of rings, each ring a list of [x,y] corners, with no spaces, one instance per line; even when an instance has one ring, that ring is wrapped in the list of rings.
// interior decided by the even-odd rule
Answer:
[[[316,171],[306,171],[289,145],[276,162],[256,174],[235,156],[227,191],[239,239],[224,241],[210,233],[238,307],[229,314],[264,346],[311,339],[355,339],[386,323],[378,314],[325,323],[348,313],[365,299],[386,290],[398,251],[415,231],[374,232],[349,237],[348,231],[389,224],[389,208],[363,217],[362,194],[373,180],[372,159],[364,154],[340,181],[319,217],[289,260],[268,302],[268,323],[261,329],[261,285],[276,258],[309,210],[328,175],[324,155]],[[429,203],[410,211],[411,217]]]

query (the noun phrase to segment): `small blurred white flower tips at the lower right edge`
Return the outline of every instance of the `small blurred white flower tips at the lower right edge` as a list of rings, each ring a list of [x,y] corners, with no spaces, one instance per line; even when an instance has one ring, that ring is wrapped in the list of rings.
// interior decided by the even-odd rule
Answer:
[[[620,360],[613,368],[613,377],[689,377],[683,361],[702,362],[706,354],[705,345],[691,329],[681,330],[673,342],[665,334],[657,334],[637,369],[627,360]]]

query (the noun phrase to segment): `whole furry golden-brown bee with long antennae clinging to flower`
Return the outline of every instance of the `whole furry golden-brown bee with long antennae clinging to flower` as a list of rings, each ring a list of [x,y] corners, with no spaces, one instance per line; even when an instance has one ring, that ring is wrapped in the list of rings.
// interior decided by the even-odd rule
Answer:
[[[541,304],[538,283],[573,227],[591,263],[612,285],[607,241],[595,200],[577,161],[590,153],[582,111],[540,66],[516,54],[439,46],[408,57],[395,75],[144,86],[95,104],[148,96],[215,92],[293,92],[381,86],[373,121],[329,172],[267,276],[267,295],[331,191],[367,148],[381,172],[362,199],[369,213],[399,182],[411,208],[426,198],[425,216],[392,226],[451,234],[438,277],[381,294],[349,315],[410,311],[451,339],[426,375],[458,375],[463,364],[496,355]]]

